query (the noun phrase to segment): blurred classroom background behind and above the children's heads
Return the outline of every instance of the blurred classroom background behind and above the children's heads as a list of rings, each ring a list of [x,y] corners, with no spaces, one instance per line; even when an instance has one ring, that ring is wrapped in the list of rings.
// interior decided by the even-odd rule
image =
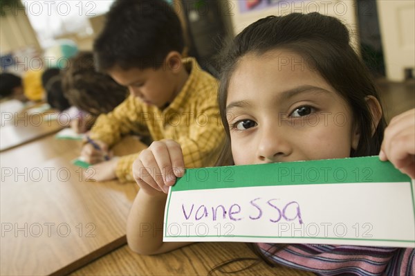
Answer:
[[[166,0],[168,1],[168,0]],[[223,41],[266,15],[320,12],[341,19],[356,51],[376,77],[387,118],[415,107],[415,1],[413,0],[170,0],[181,18],[191,55],[215,74]],[[91,50],[113,0],[0,0],[3,72],[24,75]]]

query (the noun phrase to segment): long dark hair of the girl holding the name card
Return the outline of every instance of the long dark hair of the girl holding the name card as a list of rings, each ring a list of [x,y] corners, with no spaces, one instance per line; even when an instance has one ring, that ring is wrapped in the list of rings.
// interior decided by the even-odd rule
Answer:
[[[306,66],[316,70],[349,104],[353,124],[360,131],[360,140],[351,156],[371,156],[380,151],[386,122],[381,118],[374,135],[374,122],[366,102],[367,96],[379,100],[374,81],[350,45],[349,30],[335,17],[312,12],[269,16],[245,28],[221,53],[219,75],[219,110],[226,132],[225,147],[218,165],[232,165],[230,131],[225,107],[228,85],[241,57],[248,53],[261,55],[274,49],[291,50],[301,55]]]

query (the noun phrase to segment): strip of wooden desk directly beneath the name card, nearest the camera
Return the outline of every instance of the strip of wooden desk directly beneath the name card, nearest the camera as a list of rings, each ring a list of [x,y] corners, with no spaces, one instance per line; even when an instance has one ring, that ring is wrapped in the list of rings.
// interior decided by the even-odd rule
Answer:
[[[194,243],[162,255],[143,256],[122,246],[108,255],[76,270],[71,276],[82,275],[208,275],[208,272],[223,261],[237,258],[256,258],[245,243]],[[237,261],[223,268],[234,271],[246,268],[252,260]],[[302,270],[277,266],[271,268],[264,262],[235,274],[216,271],[212,275],[315,275]]]

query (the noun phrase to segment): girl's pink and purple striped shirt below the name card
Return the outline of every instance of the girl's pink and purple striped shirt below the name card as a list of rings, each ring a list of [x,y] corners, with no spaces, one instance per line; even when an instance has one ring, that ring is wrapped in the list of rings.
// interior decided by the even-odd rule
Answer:
[[[270,260],[318,275],[414,276],[413,248],[291,244],[273,250],[273,243],[259,243]]]

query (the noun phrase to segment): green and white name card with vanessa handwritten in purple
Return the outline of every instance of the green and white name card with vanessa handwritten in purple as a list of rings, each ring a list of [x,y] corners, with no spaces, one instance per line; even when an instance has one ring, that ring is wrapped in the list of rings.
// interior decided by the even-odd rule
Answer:
[[[415,247],[414,191],[378,156],[186,169],[163,241]]]

